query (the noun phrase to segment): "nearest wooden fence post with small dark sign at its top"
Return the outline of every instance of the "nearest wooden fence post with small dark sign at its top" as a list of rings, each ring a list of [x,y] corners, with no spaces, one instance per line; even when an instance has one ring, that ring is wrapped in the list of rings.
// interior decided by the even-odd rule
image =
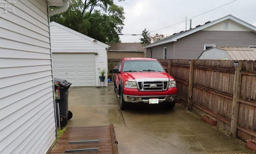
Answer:
[[[241,70],[242,62],[238,62],[238,66],[235,66],[236,72],[234,76],[234,87],[233,87],[233,102],[232,102],[232,114],[231,114],[231,126],[230,135],[232,138],[236,138],[236,129],[238,122],[238,109],[239,109],[239,98],[240,98],[240,86],[241,86]]]

